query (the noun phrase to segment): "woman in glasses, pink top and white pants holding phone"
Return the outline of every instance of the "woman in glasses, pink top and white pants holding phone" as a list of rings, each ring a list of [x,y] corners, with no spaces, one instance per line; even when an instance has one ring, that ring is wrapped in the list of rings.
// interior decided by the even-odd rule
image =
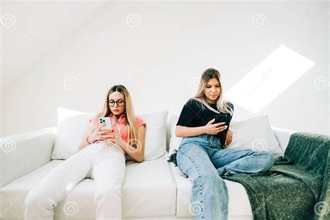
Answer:
[[[99,123],[101,117],[110,118],[112,129],[101,131],[104,126]],[[56,166],[29,191],[24,201],[24,219],[54,219],[54,207],[88,177],[94,179],[95,184],[95,219],[125,216],[121,203],[125,159],[127,156],[143,162],[146,123],[135,116],[131,96],[122,85],[109,89],[103,110],[89,121],[78,152]]]

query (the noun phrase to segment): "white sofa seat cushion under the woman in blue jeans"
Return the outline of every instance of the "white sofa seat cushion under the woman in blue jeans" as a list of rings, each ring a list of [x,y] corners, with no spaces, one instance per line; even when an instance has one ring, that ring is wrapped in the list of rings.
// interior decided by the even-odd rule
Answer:
[[[191,210],[192,202],[192,183],[178,168],[170,163],[175,184],[178,188],[177,193],[177,217],[194,216]],[[228,218],[230,219],[253,219],[249,197],[242,184],[229,180],[224,180],[228,188]]]

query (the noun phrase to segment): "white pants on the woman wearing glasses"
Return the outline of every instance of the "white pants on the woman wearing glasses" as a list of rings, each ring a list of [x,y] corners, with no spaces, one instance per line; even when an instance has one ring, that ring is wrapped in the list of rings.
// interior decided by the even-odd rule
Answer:
[[[26,196],[24,219],[53,219],[54,207],[91,174],[97,220],[122,219],[125,156],[115,143],[92,143],[48,173]]]

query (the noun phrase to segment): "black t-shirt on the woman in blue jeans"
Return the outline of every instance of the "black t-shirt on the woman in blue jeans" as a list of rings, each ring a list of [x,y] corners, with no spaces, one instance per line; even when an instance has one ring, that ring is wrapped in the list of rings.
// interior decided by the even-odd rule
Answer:
[[[229,109],[233,112],[234,105],[228,101],[226,101],[226,103],[228,104]],[[217,110],[217,104],[210,104],[210,107]],[[229,112],[215,113],[214,111],[207,109],[207,107],[205,107],[205,105],[202,102],[199,102],[198,100],[194,100],[193,98],[191,98],[186,102],[186,104],[184,104],[184,107],[182,108],[182,111],[180,113],[178,123],[176,125],[181,125],[185,127],[201,127],[206,125],[213,118],[215,118],[215,116],[221,114],[227,114],[226,125],[228,125],[228,127],[222,132],[219,132],[218,134],[214,134],[214,135],[219,138],[219,141],[221,143],[221,148],[223,148],[226,141],[226,134],[228,132],[230,125],[230,120],[231,118],[233,118],[233,114],[230,115]]]

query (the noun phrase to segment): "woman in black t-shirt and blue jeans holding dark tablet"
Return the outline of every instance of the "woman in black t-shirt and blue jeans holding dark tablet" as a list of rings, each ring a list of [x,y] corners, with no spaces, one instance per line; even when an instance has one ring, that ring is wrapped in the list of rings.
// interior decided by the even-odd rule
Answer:
[[[225,149],[232,139],[233,110],[233,104],[223,100],[219,71],[210,68],[203,72],[196,96],[180,113],[175,135],[183,139],[176,161],[193,184],[195,219],[228,219],[228,189],[220,175],[263,172],[274,164],[267,151]],[[226,125],[214,124],[214,117],[221,114],[227,115]]]

